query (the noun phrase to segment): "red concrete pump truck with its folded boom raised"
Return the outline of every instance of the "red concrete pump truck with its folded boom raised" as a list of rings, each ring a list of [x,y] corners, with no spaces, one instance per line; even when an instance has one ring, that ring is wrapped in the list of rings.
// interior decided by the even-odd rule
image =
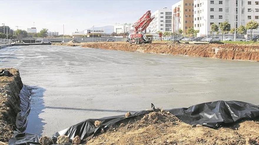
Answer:
[[[150,22],[154,18],[151,17],[151,12],[147,11],[144,15],[142,15],[136,23],[132,25],[134,27],[133,33],[129,33],[127,41],[132,44],[141,44],[141,43],[151,43],[152,35],[144,35],[143,31],[146,30]]]

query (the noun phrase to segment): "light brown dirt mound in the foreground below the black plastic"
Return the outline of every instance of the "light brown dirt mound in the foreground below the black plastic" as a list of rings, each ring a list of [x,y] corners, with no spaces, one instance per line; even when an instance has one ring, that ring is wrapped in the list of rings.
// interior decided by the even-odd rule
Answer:
[[[151,112],[115,124],[87,144],[258,144],[259,122],[212,129],[192,126],[167,111]]]

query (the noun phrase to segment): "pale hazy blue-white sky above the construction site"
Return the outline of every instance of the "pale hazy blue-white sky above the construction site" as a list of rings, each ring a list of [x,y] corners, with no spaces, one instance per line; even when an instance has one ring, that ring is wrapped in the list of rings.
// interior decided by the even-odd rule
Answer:
[[[95,0],[95,1],[0,1],[0,25],[15,29],[42,28],[71,35],[79,31],[116,23],[134,23],[146,11],[171,8],[179,0]]]

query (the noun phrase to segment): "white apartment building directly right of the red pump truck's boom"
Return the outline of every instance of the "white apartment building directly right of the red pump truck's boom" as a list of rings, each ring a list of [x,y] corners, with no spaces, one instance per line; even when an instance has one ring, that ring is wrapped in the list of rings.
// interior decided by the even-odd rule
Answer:
[[[154,19],[147,27],[147,33],[155,34],[157,31],[172,31],[172,9],[162,8],[151,14]]]

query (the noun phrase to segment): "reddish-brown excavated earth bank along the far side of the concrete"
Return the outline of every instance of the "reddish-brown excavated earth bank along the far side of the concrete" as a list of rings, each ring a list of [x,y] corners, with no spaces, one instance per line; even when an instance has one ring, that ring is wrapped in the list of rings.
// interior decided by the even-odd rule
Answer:
[[[84,43],[82,47],[155,54],[188,55],[228,60],[259,61],[259,45],[234,44],[179,44],[152,43],[128,44],[126,42]]]

